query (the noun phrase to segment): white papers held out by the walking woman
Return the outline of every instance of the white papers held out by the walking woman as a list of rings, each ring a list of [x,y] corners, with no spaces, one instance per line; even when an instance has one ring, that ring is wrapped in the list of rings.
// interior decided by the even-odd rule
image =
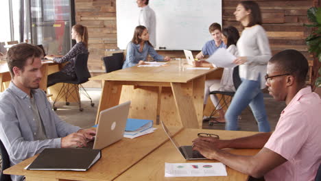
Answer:
[[[224,68],[234,68],[237,64],[233,64],[233,61],[236,59],[232,53],[227,51],[224,48],[217,49],[212,56],[210,56],[206,61],[212,64],[215,64],[216,67]]]

